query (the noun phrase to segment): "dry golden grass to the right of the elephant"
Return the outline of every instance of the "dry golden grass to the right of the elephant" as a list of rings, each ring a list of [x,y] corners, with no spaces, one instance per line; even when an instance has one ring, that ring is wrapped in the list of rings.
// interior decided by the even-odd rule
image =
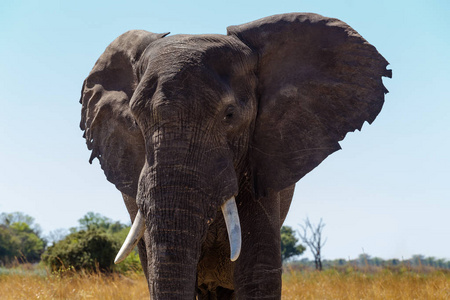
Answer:
[[[374,273],[335,270],[283,275],[283,297],[301,299],[450,299],[450,274],[432,271]]]

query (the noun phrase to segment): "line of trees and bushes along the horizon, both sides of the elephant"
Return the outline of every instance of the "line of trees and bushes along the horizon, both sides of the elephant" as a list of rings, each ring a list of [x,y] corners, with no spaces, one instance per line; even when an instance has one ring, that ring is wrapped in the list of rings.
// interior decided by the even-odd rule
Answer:
[[[130,226],[88,212],[78,220],[77,227],[59,229],[43,236],[34,218],[21,212],[0,214],[0,266],[13,263],[39,263],[53,270],[73,268],[91,271],[142,271],[136,249],[127,259],[114,265],[114,257],[125,240]],[[321,249],[326,239],[322,237],[325,224],[320,220],[313,225],[309,219],[296,232],[290,226],[281,227],[281,257],[291,266],[311,267],[317,270],[341,266],[355,267],[433,267],[450,269],[450,261],[435,257],[414,255],[407,260],[371,257],[361,254],[356,259],[323,260]],[[297,238],[297,235],[299,238]],[[299,257],[309,248],[314,260]]]

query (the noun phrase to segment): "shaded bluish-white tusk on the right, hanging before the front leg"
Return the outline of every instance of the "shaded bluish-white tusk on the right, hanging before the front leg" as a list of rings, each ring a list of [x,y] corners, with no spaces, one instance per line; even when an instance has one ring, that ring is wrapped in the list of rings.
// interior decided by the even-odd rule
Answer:
[[[230,240],[230,259],[235,261],[241,253],[241,223],[234,197],[228,199],[222,205],[222,213],[227,225],[228,239]]]

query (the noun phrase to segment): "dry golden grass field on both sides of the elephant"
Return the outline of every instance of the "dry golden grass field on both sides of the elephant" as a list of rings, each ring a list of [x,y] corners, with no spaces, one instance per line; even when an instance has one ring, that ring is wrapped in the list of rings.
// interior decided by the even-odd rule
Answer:
[[[148,299],[144,275],[0,271],[0,299]],[[282,299],[450,299],[450,272],[286,271]]]

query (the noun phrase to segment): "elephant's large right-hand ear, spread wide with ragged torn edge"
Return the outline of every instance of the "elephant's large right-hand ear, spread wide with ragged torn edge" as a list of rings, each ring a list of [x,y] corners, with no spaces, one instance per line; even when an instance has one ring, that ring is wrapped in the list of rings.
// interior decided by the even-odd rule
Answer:
[[[251,157],[260,195],[297,182],[383,106],[388,62],[337,19],[275,15],[229,27],[228,35],[259,55]]]

